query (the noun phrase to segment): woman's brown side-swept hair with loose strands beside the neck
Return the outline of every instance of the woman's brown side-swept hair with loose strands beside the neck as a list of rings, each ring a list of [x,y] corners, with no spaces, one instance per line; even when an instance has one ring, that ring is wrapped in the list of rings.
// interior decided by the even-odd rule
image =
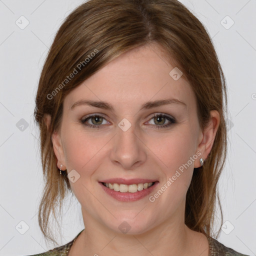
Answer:
[[[211,151],[204,165],[193,170],[186,193],[185,224],[212,235],[216,202],[222,224],[217,181],[226,158],[226,84],[205,27],[177,0],[89,0],[75,8],[58,29],[40,74],[35,99],[34,118],[40,129],[45,182],[38,221],[47,240],[55,242],[49,216],[52,213],[56,220],[56,208],[61,208],[66,192],[71,191],[66,171],[59,175],[51,141],[51,134],[61,124],[64,97],[123,52],[149,43],[157,43],[168,57],[174,58],[189,82],[196,97],[201,129],[207,125],[211,110],[219,113],[220,123]],[[51,116],[48,127],[45,114]],[[219,231],[220,228],[218,234]]]

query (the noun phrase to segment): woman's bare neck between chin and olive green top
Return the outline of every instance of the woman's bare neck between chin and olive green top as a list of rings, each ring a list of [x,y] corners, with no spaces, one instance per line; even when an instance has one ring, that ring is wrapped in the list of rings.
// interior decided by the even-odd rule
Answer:
[[[180,215],[179,215],[180,216]],[[176,218],[176,219],[180,219]],[[206,237],[192,231],[184,220],[165,221],[140,234],[123,234],[109,229],[90,215],[84,214],[85,229],[79,235],[76,250],[81,255],[208,255]],[[86,220],[86,222],[85,222]],[[78,254],[79,254],[78,253]],[[80,255],[80,254],[79,254]]]

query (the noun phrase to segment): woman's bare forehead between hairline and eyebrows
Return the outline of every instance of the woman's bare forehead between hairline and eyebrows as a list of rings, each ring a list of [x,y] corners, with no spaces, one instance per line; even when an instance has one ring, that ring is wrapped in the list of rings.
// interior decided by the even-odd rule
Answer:
[[[195,97],[189,83],[182,75],[173,79],[169,73],[176,68],[174,59],[170,63],[164,54],[159,45],[143,45],[119,55],[73,89],[64,107],[70,108],[77,100],[93,99],[118,109],[135,109],[143,102],[163,98],[176,98],[192,107]]]

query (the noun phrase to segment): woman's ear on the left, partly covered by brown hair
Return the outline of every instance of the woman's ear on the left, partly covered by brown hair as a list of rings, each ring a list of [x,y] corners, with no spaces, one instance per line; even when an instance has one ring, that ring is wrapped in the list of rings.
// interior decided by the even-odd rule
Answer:
[[[49,114],[44,114],[44,121],[48,129],[51,121],[51,116]],[[66,165],[64,150],[61,142],[61,137],[58,131],[53,131],[53,133],[51,134],[51,141],[53,145],[54,154],[57,158],[57,167],[60,169],[60,165],[62,164],[61,170],[65,170]]]

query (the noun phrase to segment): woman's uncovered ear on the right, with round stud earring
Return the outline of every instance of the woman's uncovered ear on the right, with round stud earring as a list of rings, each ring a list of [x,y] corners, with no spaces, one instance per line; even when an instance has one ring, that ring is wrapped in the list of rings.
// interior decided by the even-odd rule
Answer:
[[[194,168],[198,168],[201,166],[199,162],[199,158],[203,158],[203,160],[205,160],[208,154],[210,153],[218,126],[219,126],[219,113],[217,110],[211,110],[210,120],[207,126],[202,131],[202,134],[200,136],[202,138],[200,138],[199,144],[196,149],[196,151],[201,152],[201,155],[198,157],[196,163],[194,164]]]

